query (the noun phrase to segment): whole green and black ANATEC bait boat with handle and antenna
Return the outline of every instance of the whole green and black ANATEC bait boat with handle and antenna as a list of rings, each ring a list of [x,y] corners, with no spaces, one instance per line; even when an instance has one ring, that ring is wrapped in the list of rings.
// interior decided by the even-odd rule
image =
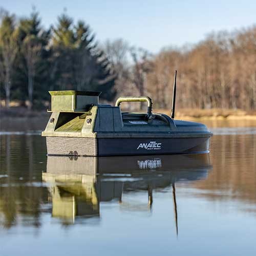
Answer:
[[[100,92],[50,91],[48,155],[117,156],[208,153],[212,133],[204,124],[152,112],[149,97],[120,97],[115,106],[99,104]],[[121,112],[122,102],[147,102],[145,113]]]

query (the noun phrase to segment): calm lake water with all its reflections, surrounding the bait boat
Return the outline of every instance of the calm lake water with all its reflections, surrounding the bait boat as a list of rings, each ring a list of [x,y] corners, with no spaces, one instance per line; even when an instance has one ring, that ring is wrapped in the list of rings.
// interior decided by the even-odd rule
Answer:
[[[0,255],[255,255],[256,124],[207,124],[210,154],[173,156],[47,157],[2,130]]]

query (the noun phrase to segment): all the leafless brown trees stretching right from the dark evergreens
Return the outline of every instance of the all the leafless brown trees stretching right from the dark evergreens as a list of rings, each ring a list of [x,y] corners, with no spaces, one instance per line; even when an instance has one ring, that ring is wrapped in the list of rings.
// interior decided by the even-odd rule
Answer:
[[[132,53],[132,68],[126,65],[125,42],[116,40],[107,46],[106,52],[116,55],[112,63],[123,88],[151,96],[157,108],[170,109],[178,70],[179,108],[256,109],[256,27],[211,33],[193,46],[164,48],[155,55]]]

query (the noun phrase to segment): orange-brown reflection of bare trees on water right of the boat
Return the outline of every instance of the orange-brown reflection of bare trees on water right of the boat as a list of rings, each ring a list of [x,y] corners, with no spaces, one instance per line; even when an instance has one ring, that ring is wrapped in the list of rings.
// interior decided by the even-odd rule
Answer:
[[[196,187],[205,189],[203,196],[211,200],[241,200],[255,205],[256,136],[214,136],[211,143],[214,171]]]

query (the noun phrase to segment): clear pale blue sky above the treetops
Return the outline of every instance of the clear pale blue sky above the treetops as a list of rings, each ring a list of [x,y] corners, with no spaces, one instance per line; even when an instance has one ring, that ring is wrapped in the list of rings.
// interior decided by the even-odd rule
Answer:
[[[34,5],[45,27],[67,8],[75,20],[85,20],[99,41],[123,38],[153,53],[166,46],[202,40],[212,31],[240,29],[256,24],[256,1],[185,0],[0,0],[0,7],[28,15]]]

